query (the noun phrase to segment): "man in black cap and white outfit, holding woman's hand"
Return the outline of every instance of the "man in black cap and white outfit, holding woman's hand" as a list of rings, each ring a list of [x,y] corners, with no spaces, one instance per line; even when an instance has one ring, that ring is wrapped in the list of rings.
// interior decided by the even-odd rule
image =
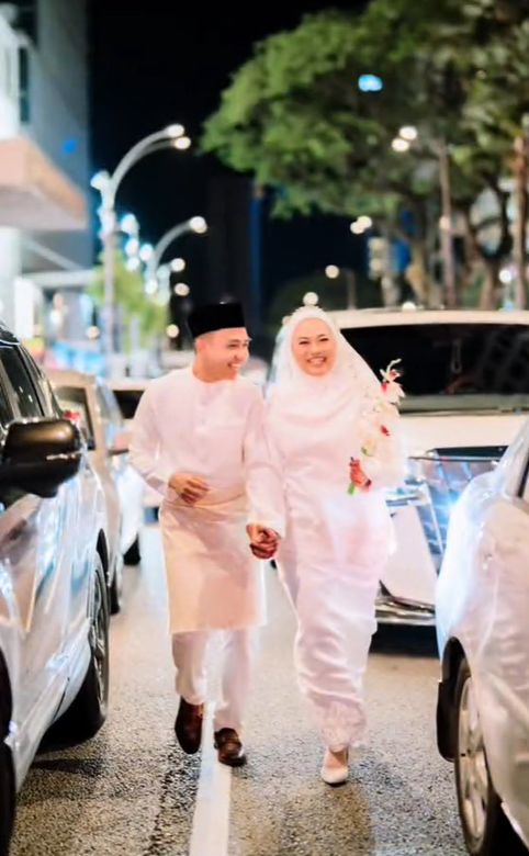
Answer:
[[[266,622],[262,567],[252,554],[271,557],[283,534],[282,485],[267,446],[261,393],[239,376],[249,347],[241,306],[198,308],[188,326],[194,362],[148,384],[131,459],[165,497],[159,520],[180,696],[178,741],[188,754],[201,746],[206,649],[213,631],[223,630],[214,740],[220,762],[240,766],[252,631]]]

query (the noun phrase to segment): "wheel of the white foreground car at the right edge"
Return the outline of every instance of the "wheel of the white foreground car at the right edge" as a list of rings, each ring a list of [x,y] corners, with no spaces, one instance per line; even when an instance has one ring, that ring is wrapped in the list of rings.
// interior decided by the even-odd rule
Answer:
[[[465,657],[455,685],[455,788],[471,856],[522,856],[527,851],[502,810],[486,761],[472,674]],[[472,718],[472,722],[470,721]],[[470,798],[474,797],[474,800]],[[472,804],[474,802],[474,804]],[[480,803],[480,818],[476,804]]]

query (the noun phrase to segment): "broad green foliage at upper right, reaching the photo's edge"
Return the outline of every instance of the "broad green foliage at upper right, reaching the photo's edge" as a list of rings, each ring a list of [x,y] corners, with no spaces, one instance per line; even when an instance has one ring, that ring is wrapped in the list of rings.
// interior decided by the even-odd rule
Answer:
[[[529,112],[528,56],[529,0],[372,0],[360,14],[311,14],[256,46],[205,123],[202,147],[275,189],[279,216],[317,209],[397,228],[410,212],[405,237],[424,255],[447,143],[453,206],[475,257],[497,272],[510,250],[502,179]],[[382,90],[360,91],[359,77],[373,71]],[[396,153],[406,125],[417,140]],[[485,190],[500,212],[492,258],[471,217]]]

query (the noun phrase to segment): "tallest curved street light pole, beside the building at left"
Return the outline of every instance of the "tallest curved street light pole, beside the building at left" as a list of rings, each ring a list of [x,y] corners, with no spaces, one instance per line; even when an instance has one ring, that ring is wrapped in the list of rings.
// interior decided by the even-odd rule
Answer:
[[[114,352],[114,246],[116,232],[115,198],[121,182],[128,170],[142,160],[146,155],[159,151],[169,146],[179,150],[185,150],[191,145],[189,137],[184,135],[182,125],[169,125],[169,127],[149,134],[133,146],[121,159],[114,172],[98,172],[92,181],[92,188],[101,194],[101,240],[103,244],[103,270],[104,270],[104,325],[103,341],[105,353],[106,373],[111,372],[111,360]]]

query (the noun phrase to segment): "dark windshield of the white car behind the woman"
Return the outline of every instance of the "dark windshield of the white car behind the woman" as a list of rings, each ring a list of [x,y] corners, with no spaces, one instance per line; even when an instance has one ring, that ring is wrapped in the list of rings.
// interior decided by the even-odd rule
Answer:
[[[529,410],[529,327],[403,324],[341,331],[379,376],[402,360],[403,413]]]

